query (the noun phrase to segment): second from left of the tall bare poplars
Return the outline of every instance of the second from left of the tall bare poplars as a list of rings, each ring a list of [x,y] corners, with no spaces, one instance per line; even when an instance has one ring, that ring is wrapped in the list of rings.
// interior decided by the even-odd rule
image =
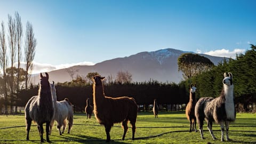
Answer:
[[[15,56],[16,56],[16,43],[17,43],[17,33],[16,33],[16,23],[15,19],[12,18],[10,14],[8,14],[8,27],[9,27],[9,47],[10,47],[10,58],[11,58],[11,81],[10,81],[10,88],[11,88],[11,113],[13,111],[13,102],[14,102],[14,62],[15,62]]]

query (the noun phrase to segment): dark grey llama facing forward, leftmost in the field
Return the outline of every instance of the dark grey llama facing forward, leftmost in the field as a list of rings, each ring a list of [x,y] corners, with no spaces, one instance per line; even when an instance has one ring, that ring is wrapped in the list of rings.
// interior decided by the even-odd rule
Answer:
[[[44,142],[43,123],[46,123],[46,141],[51,142],[49,139],[49,127],[54,116],[54,106],[49,83],[49,75],[47,73],[45,73],[45,75],[46,76],[44,77],[42,73],[40,74],[41,82],[38,95],[30,98],[25,107],[27,140],[29,140],[31,122],[35,121],[37,123],[41,142]]]

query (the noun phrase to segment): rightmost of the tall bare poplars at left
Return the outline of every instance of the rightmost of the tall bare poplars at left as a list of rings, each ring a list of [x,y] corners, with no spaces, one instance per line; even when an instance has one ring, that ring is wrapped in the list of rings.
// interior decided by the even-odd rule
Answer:
[[[26,77],[25,77],[25,89],[28,89],[28,80],[33,70],[33,60],[35,58],[36,51],[36,38],[33,31],[32,24],[28,21],[26,25],[26,40],[25,40],[25,60],[26,60]]]

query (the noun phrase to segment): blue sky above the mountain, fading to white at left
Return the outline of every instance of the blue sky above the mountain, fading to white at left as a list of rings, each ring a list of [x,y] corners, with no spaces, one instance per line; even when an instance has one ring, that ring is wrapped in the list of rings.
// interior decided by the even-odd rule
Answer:
[[[256,44],[256,1],[1,1],[37,39],[34,62],[62,68],[174,48],[232,57]],[[6,30],[7,31],[7,30]]]

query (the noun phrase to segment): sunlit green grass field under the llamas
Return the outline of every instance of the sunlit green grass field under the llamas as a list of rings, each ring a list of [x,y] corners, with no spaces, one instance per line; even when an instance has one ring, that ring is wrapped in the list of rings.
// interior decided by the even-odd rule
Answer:
[[[161,112],[158,118],[155,118],[153,113],[141,112],[138,113],[136,125],[135,140],[131,140],[129,127],[126,139],[122,141],[121,124],[115,124],[110,131],[110,143],[220,143],[221,132],[217,124],[214,124],[213,131],[218,140],[212,140],[206,123],[204,124],[205,140],[201,139],[199,132],[189,133],[189,122],[185,111]],[[0,143],[39,143],[36,125],[31,126],[30,141],[26,141],[25,129],[24,115],[8,117],[1,115]],[[232,141],[222,143],[256,143],[256,114],[238,113],[235,123],[230,125],[229,138]],[[45,133],[44,139],[46,139]],[[52,143],[106,143],[106,134],[104,126],[99,125],[94,116],[86,119],[85,113],[79,113],[74,116],[74,125],[70,134],[66,131],[63,135],[59,135],[55,125],[50,140]]]

